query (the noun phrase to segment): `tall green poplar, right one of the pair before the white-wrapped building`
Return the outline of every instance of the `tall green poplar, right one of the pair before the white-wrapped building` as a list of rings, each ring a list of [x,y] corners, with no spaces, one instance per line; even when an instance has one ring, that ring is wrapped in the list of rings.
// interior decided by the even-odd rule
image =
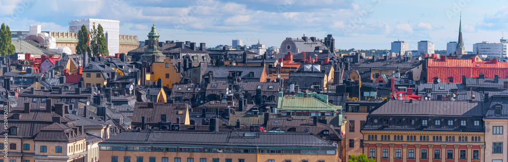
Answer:
[[[102,28],[102,25],[99,24],[99,26],[95,27],[95,23],[93,23],[93,28],[90,30],[90,47],[92,49],[92,52],[94,54],[102,54],[103,56],[108,56],[108,42],[106,40],[106,36],[104,35],[104,29]]]

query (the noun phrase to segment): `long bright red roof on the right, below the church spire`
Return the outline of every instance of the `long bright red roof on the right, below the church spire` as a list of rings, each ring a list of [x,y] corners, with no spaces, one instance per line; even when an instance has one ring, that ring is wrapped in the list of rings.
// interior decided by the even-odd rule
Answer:
[[[462,75],[477,78],[479,74],[485,74],[485,78],[508,78],[508,62],[497,62],[497,59],[489,61],[457,60],[457,59],[429,59],[427,61],[427,82],[433,82],[434,78],[440,78],[441,82],[462,83]]]

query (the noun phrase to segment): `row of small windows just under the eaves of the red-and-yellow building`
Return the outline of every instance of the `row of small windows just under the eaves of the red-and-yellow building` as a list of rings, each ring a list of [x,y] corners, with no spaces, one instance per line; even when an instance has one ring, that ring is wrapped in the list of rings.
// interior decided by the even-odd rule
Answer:
[[[389,135],[380,135],[382,141],[390,141]],[[368,135],[368,140],[377,140],[377,135]],[[446,136],[444,137],[445,141],[455,141],[455,136]],[[467,142],[467,136],[459,136],[459,141]],[[393,135],[394,141],[403,141],[404,136]],[[406,141],[416,141],[416,136],[406,136]],[[432,141],[442,141],[442,136],[432,136]],[[420,141],[429,141],[429,136],[420,136]],[[471,142],[480,142],[480,136],[471,136]]]

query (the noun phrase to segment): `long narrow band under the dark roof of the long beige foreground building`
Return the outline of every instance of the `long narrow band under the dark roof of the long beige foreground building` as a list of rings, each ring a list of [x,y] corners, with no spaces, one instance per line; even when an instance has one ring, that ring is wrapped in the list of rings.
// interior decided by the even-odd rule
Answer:
[[[119,151],[156,151],[156,152],[218,152],[218,153],[256,153],[256,149],[228,149],[228,148],[176,148],[176,147],[123,147],[101,146],[100,150]],[[287,153],[287,154],[335,154],[335,150],[269,150],[260,149],[258,153]]]

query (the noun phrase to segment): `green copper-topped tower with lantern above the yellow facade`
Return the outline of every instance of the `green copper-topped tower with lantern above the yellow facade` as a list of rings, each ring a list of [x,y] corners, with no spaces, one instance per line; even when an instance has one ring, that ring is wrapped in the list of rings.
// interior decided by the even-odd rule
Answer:
[[[155,31],[155,23],[153,23],[152,30],[148,33],[148,42],[145,42],[147,45],[145,49],[145,53],[141,55],[141,60],[146,60],[147,62],[164,62],[165,55],[159,50],[158,47],[158,37],[160,36],[157,31]]]

